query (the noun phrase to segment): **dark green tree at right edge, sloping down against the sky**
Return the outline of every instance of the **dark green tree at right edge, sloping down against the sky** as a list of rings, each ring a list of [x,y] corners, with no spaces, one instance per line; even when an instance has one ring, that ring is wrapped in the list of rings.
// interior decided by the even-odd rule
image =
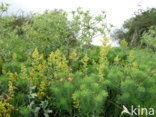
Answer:
[[[130,47],[136,46],[149,46],[144,41],[144,36],[149,35],[150,47],[155,49],[156,37],[151,30],[155,31],[156,27],[156,8],[150,8],[148,10],[138,10],[134,13],[134,17],[124,22],[122,28],[114,31],[113,37],[119,40],[125,39]],[[151,34],[152,33],[152,34]],[[147,39],[147,38],[146,38]]]

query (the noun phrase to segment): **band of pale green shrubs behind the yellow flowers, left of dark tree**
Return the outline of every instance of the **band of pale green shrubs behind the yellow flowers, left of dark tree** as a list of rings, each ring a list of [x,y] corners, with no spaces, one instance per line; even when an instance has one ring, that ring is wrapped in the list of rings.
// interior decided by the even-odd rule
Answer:
[[[46,57],[60,49],[69,59],[71,48],[82,54],[85,48],[93,47],[92,38],[106,32],[105,17],[104,12],[93,16],[81,8],[68,14],[53,10],[32,16],[4,16],[0,19],[0,55],[10,61],[16,53],[18,61],[26,61],[35,48]]]

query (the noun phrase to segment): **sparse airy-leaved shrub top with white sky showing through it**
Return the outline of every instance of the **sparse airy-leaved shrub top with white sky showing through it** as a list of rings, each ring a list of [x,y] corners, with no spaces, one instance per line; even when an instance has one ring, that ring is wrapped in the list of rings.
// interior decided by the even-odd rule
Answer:
[[[87,46],[91,46],[92,39],[99,34],[105,34],[107,25],[104,23],[105,12],[94,16],[90,11],[78,8],[72,11],[71,29],[76,38]],[[80,46],[83,46],[83,45]],[[80,47],[81,48],[81,47]]]

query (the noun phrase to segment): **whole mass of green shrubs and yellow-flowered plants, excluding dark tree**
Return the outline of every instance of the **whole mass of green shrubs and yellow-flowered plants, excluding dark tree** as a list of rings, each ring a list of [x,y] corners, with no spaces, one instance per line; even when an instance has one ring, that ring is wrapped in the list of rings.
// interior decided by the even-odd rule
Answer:
[[[142,35],[144,49],[125,40],[112,48],[105,13],[78,8],[69,20],[62,10],[31,17],[6,11],[2,4],[0,117],[120,117],[127,116],[123,105],[156,109],[155,27]],[[103,45],[92,45],[99,34]]]

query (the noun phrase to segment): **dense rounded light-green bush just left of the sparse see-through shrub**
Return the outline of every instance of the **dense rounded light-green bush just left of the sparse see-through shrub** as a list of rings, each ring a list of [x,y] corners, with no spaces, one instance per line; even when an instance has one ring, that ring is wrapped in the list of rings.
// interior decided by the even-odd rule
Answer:
[[[42,15],[34,15],[31,22],[22,27],[23,36],[32,41],[34,46],[44,50],[44,53],[49,54],[67,44],[70,30],[64,11],[46,11]]]

